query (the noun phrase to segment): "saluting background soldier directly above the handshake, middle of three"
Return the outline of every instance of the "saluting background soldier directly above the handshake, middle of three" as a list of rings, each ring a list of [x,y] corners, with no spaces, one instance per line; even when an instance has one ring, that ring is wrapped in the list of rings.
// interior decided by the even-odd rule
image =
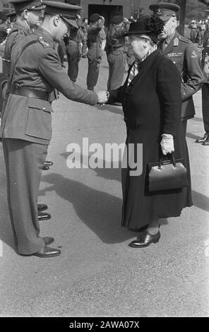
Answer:
[[[102,39],[100,30],[104,26],[104,18],[100,14],[94,13],[90,16],[90,26],[88,28],[88,74],[86,84],[88,90],[94,90],[97,85],[100,64],[102,61]]]

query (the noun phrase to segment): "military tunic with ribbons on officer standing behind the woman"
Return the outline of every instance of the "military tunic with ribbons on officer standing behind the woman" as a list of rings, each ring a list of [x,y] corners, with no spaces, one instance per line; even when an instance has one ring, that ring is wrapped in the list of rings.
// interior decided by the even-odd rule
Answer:
[[[163,52],[162,44],[163,40],[159,43],[158,49],[162,55],[173,61],[181,73],[181,121],[186,121],[194,117],[195,108],[192,95],[201,88],[203,83],[201,57],[197,47],[178,32],[175,32]]]

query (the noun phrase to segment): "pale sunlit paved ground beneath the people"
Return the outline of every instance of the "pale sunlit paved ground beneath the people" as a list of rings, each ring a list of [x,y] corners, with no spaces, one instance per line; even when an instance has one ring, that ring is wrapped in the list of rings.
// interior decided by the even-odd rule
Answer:
[[[83,86],[86,71],[82,59]],[[103,59],[97,90],[105,82]],[[59,257],[26,258],[14,251],[0,147],[1,316],[209,316],[209,147],[194,143],[203,134],[200,92],[195,102],[187,134],[194,205],[180,218],[162,220],[160,242],[146,249],[128,247],[135,233],[120,227],[120,170],[66,167],[68,143],[83,137],[89,144],[124,142],[121,107],[90,107],[63,96],[54,105],[47,156],[54,166],[43,172],[39,201],[52,214],[41,235],[55,237]]]

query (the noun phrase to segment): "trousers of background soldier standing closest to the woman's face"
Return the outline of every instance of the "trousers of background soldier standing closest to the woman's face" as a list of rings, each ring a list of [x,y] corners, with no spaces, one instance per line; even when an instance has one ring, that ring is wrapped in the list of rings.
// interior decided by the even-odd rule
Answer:
[[[126,70],[126,53],[123,50],[114,51],[108,55],[109,77],[107,81],[107,90],[119,88],[124,80]]]

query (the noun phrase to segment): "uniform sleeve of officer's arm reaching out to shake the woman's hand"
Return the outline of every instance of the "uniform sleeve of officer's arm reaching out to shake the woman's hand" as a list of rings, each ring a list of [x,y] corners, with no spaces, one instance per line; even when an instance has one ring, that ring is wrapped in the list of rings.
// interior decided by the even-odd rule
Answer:
[[[88,105],[97,103],[97,93],[73,83],[61,67],[59,56],[52,48],[44,49],[44,52],[40,55],[38,69],[46,81],[68,99]]]

